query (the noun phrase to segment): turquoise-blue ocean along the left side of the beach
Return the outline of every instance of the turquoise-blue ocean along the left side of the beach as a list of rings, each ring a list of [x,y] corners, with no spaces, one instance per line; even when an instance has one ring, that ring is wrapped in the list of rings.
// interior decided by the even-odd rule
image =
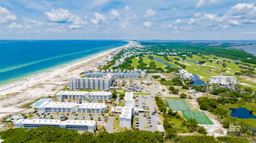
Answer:
[[[2,40],[0,85],[23,81],[126,44],[123,40]]]

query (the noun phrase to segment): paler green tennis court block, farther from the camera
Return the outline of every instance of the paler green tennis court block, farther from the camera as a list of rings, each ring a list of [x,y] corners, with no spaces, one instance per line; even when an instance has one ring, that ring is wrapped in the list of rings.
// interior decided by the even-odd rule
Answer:
[[[190,111],[184,100],[165,100],[168,103],[168,108],[173,111]]]

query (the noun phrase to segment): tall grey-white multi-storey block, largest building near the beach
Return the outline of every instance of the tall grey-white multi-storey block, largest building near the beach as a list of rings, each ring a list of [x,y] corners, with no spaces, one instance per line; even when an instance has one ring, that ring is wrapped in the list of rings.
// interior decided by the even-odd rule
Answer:
[[[70,78],[68,81],[69,89],[101,89],[109,90],[114,82],[114,74],[109,73],[103,77]]]

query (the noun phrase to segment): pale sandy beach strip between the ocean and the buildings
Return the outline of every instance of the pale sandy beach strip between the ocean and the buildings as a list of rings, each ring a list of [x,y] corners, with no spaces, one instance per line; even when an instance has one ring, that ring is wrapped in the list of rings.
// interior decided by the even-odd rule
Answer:
[[[68,85],[69,78],[80,77],[80,73],[86,69],[96,69],[99,66],[97,65],[99,60],[104,59],[117,50],[128,48],[137,43],[135,41],[128,42],[129,43],[126,45],[103,51],[89,58],[85,57],[83,60],[78,59],[75,62],[67,63],[63,65],[62,68],[52,69],[52,72],[36,74],[20,82],[21,84],[12,82],[11,84],[5,85],[5,87],[14,87],[0,92],[0,118],[6,116],[6,114],[19,112],[26,114],[27,112],[31,112],[30,108],[26,109],[22,108],[22,106],[32,103],[34,100],[41,97],[54,96]],[[0,86],[0,90],[2,88],[3,87]]]

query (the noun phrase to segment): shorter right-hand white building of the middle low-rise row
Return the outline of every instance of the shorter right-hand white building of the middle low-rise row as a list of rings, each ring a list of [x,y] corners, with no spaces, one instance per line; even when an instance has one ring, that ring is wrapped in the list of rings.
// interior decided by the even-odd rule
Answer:
[[[103,103],[82,103],[78,104],[78,113],[102,114],[107,112],[107,106]]]

